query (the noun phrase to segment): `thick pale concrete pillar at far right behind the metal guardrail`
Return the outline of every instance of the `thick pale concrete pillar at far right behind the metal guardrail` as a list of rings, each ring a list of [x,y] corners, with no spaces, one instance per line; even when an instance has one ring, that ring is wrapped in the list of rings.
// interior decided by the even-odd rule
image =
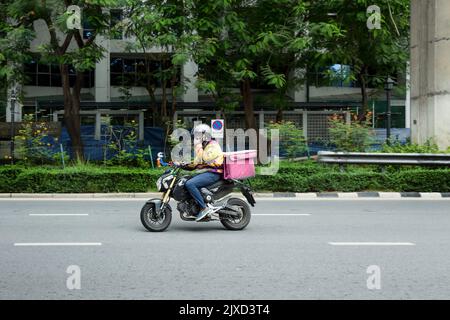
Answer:
[[[411,138],[450,146],[450,1],[411,1]]]

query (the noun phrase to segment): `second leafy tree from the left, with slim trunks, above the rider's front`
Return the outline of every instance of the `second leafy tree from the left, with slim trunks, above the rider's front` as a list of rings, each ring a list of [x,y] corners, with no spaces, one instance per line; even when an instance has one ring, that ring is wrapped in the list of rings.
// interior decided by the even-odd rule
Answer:
[[[177,83],[180,68],[188,61],[188,47],[196,39],[190,30],[189,3],[168,0],[162,5],[157,0],[127,0],[124,20],[118,24],[128,36],[136,39],[135,42],[128,42],[127,49],[144,54],[145,66],[141,76],[150,96],[153,114],[160,114],[162,119],[168,116],[169,85],[172,95],[171,111],[175,112],[176,96],[184,89]],[[156,53],[155,48],[158,49]],[[159,70],[154,70],[152,65],[155,60],[160,63]],[[156,107],[155,90],[158,82],[162,89],[161,110]]]

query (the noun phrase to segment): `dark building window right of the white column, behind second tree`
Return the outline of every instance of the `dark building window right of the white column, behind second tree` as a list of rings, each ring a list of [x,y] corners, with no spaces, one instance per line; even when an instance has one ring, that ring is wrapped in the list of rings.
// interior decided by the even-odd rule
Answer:
[[[142,58],[131,58],[115,56],[111,57],[110,65],[110,81],[112,86],[120,87],[145,87],[148,80],[150,80],[155,87],[161,87],[161,80],[158,75],[163,69],[171,67],[170,61],[163,66],[161,61],[150,60],[147,61]],[[148,63],[148,64],[147,64]],[[147,67],[150,72],[147,73]],[[177,74],[177,81],[179,83],[180,72]],[[171,81],[167,81],[167,88],[171,87]]]

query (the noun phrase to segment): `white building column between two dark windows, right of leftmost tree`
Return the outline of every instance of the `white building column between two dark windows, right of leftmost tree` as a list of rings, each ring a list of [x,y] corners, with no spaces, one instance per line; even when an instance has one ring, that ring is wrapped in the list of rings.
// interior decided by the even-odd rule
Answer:
[[[95,101],[111,101],[110,84],[110,40],[102,36],[97,36],[97,45],[105,48],[103,59],[95,64]]]

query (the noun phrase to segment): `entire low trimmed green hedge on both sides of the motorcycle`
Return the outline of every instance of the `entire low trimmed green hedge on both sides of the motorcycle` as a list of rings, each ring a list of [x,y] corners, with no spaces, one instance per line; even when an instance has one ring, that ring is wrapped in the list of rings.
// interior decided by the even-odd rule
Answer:
[[[155,191],[162,169],[124,167],[0,167],[0,193],[91,193]],[[251,179],[255,191],[450,192],[450,169],[348,167],[315,162],[282,163],[273,176]]]

